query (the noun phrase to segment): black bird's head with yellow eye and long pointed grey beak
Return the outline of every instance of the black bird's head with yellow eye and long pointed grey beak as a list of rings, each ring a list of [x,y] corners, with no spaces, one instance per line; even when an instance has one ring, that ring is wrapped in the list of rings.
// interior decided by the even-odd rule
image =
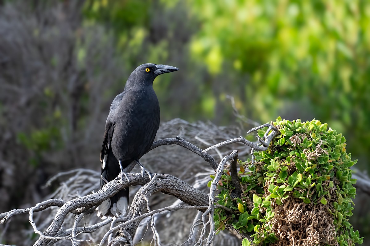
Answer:
[[[151,85],[158,75],[162,73],[171,73],[179,70],[177,67],[168,65],[159,65],[153,63],[145,63],[138,66],[130,75],[126,85],[132,86],[133,84]]]

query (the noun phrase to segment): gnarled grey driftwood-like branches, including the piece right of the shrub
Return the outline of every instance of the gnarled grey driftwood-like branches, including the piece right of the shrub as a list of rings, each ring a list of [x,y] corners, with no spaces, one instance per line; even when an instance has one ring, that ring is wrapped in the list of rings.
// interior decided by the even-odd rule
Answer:
[[[262,139],[258,138],[259,143],[257,145],[253,143],[252,147],[258,146],[259,150],[266,149],[267,146],[269,146],[272,138],[278,134],[277,129],[273,127],[273,125],[265,124],[261,127],[268,127],[268,132]],[[254,131],[261,127],[253,128],[252,130]],[[235,196],[238,196],[240,195],[241,191],[240,184],[237,180],[236,169],[238,151],[234,150],[229,155],[224,156],[219,163],[216,162],[216,160],[211,155],[209,155],[207,151],[216,150],[216,148],[235,142],[245,143],[246,145],[250,143],[249,141],[245,141],[244,138],[240,137],[221,142],[205,150],[196,147],[192,143],[189,143],[188,141],[180,137],[160,139],[159,141],[153,143],[151,150],[158,148],[159,146],[175,144],[182,146],[185,149],[191,150],[191,152],[196,153],[206,163],[208,163],[209,166],[216,173],[215,179],[212,181],[211,187],[208,191],[209,194],[206,194],[204,191],[198,190],[185,181],[169,174],[152,173],[151,177],[149,177],[148,173],[145,172],[127,173],[126,175],[122,177],[119,176],[117,177],[117,179],[105,184],[105,186],[101,190],[93,194],[83,195],[70,201],[64,201],[61,199],[49,199],[36,204],[34,207],[31,208],[13,209],[9,212],[2,213],[0,214],[1,224],[6,223],[12,216],[28,213],[30,224],[33,226],[34,232],[40,235],[40,238],[34,244],[35,246],[53,245],[55,242],[65,239],[71,240],[73,245],[78,245],[80,242],[86,241],[78,239],[78,235],[80,235],[81,233],[93,233],[99,228],[111,224],[110,229],[107,230],[105,235],[102,237],[100,245],[106,245],[108,243],[108,245],[117,246],[134,245],[135,243],[137,243],[140,239],[135,239],[134,236],[135,233],[140,234],[138,233],[138,231],[142,231],[140,223],[143,219],[145,219],[147,221],[151,220],[150,225],[154,235],[153,240],[155,244],[158,244],[159,238],[157,238],[156,236],[158,234],[158,231],[155,226],[155,216],[168,211],[195,209],[200,211],[200,214],[198,214],[199,216],[196,216],[196,218],[194,219],[189,238],[186,242],[184,242],[184,245],[212,245],[215,239],[213,211],[215,207],[220,207],[219,205],[215,205],[216,190],[218,181],[221,179],[221,175],[226,163],[231,163],[231,175],[233,179],[232,183],[236,187],[233,194]],[[218,152],[219,155],[220,153],[221,152]],[[184,165],[184,163],[182,164]],[[75,177],[77,177],[78,179],[78,177],[82,176],[89,177],[91,176],[91,174],[94,173],[94,171],[87,169],[68,171],[58,174],[51,181],[65,174],[72,173],[77,173],[75,174]],[[358,183],[355,185],[357,188],[360,188],[365,193],[370,194],[370,181],[366,175],[354,171],[353,178],[358,179]],[[88,216],[89,214],[94,212],[95,208],[102,201],[108,199],[109,197],[112,197],[118,191],[129,186],[142,187],[135,194],[131,202],[129,211],[125,217],[117,219],[107,218],[104,221],[99,221],[94,225],[84,227],[79,226],[80,222],[85,218],[85,216]],[[89,189],[87,189],[87,191],[89,191]],[[151,208],[149,207],[149,198],[157,192],[171,195],[178,198],[182,202],[181,204],[177,203],[171,206],[151,210]],[[48,228],[41,232],[37,229],[37,225],[34,222],[34,213],[44,211],[45,209],[51,207],[60,208],[55,213],[54,219],[48,225]],[[230,209],[224,209],[227,212],[232,213]],[[75,218],[74,224],[71,228],[64,229],[62,227],[63,222],[65,221],[65,218],[67,218],[67,216],[70,214],[77,215],[77,217]],[[233,228],[229,226],[228,229],[232,230]],[[145,232],[142,234],[145,234]],[[248,238],[250,240],[248,235],[239,234],[239,236],[243,238]]]

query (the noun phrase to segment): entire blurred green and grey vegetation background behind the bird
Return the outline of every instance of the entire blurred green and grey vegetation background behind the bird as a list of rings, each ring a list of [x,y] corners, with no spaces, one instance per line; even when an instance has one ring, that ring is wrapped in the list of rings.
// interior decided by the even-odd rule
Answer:
[[[1,211],[99,168],[111,100],[146,62],[180,68],[155,81],[162,121],[234,124],[230,95],[255,122],[327,123],[369,170],[369,30],[361,0],[0,1]],[[355,203],[366,245],[369,200]]]

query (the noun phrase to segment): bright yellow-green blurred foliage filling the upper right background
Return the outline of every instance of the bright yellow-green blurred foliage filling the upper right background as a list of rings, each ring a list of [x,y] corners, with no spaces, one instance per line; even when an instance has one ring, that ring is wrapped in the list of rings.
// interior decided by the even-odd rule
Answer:
[[[194,3],[205,25],[192,52],[210,72],[232,63],[239,73],[249,74],[243,91],[248,100],[242,105],[253,105],[252,118],[268,121],[293,108],[302,111],[302,118],[313,115],[350,133],[361,143],[352,152],[369,149],[367,1]]]

